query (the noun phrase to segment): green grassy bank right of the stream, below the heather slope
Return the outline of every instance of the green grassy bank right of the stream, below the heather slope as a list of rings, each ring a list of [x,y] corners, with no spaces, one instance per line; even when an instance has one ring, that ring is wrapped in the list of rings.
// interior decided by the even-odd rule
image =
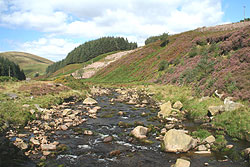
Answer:
[[[195,96],[188,87],[177,87],[173,85],[150,85],[150,92],[155,93],[154,98],[157,101],[181,101],[183,109],[187,111],[191,119],[205,120],[207,118],[208,107],[222,105],[223,101],[212,96],[201,100]],[[250,141],[250,109],[249,103],[243,102],[244,107],[230,112],[223,112],[214,116],[212,125],[215,128],[223,129],[228,135]]]

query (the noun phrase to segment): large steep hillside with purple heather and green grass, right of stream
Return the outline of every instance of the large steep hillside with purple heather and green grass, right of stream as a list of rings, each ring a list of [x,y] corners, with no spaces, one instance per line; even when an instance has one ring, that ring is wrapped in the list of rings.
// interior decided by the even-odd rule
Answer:
[[[249,100],[250,26],[234,27],[169,36],[167,46],[161,47],[160,41],[146,45],[100,70],[90,81],[189,85],[203,96],[218,90]]]

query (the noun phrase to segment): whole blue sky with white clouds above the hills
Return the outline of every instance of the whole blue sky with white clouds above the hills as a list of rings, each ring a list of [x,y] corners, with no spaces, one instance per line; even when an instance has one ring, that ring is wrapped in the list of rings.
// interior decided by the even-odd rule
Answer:
[[[0,0],[0,52],[59,61],[80,44],[121,36],[144,44],[164,32],[250,18],[250,0]]]

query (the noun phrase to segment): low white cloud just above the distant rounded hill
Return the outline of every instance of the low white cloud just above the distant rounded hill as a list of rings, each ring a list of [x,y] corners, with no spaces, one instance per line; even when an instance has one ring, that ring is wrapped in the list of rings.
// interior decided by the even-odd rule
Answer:
[[[65,58],[67,53],[78,45],[79,43],[60,38],[40,38],[36,41],[20,44],[18,50],[58,61]]]

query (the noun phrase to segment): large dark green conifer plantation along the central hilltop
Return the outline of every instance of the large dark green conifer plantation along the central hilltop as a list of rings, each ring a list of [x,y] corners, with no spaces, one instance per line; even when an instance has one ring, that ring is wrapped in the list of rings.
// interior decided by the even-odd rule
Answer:
[[[128,42],[122,37],[99,38],[78,46],[65,59],[48,66],[46,72],[53,73],[68,64],[86,62],[104,53],[135,48],[137,48],[137,43]]]

